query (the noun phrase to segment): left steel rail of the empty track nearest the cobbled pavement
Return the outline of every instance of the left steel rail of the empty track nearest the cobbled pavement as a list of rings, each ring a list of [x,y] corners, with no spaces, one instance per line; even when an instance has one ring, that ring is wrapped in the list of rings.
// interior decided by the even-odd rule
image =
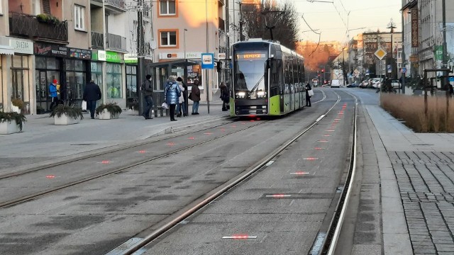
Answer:
[[[324,95],[324,93],[323,93],[323,95]],[[326,111],[326,113],[321,115],[321,118],[318,118],[317,120],[315,120],[314,123],[309,125],[305,130],[299,132],[299,134],[297,134],[294,138],[292,138],[292,140],[289,140],[287,143],[285,143],[284,145],[281,145],[279,148],[277,148],[274,152],[270,153],[267,157],[262,159],[262,162],[256,164],[256,166],[254,166],[253,169],[250,169],[245,174],[239,176],[237,179],[231,181],[230,183],[227,183],[226,186],[224,186],[223,188],[219,189],[218,191],[211,194],[207,198],[204,198],[204,200],[201,200],[201,202],[197,203],[192,208],[189,208],[185,212],[182,212],[182,214],[176,216],[174,219],[170,220],[170,222],[167,222],[167,223],[165,223],[165,225],[162,225],[158,229],[155,229],[153,232],[148,234],[146,237],[143,237],[142,240],[129,246],[128,249],[126,249],[125,251],[123,251],[123,253],[118,254],[118,255],[133,254],[135,251],[138,251],[143,246],[149,244],[150,242],[153,242],[153,240],[157,239],[157,237],[160,237],[162,234],[164,234],[165,232],[172,229],[172,227],[175,227],[179,222],[182,222],[182,220],[186,219],[190,215],[193,215],[195,212],[201,210],[201,208],[204,208],[204,206],[211,203],[211,201],[222,196],[223,193],[226,193],[227,191],[231,190],[238,184],[240,184],[243,181],[245,181],[246,179],[248,179],[250,176],[255,174],[257,171],[260,171],[260,169],[262,169],[263,166],[265,166],[268,162],[272,161],[272,159],[275,159],[275,157],[277,157],[277,155],[279,155],[281,152],[283,152],[284,149],[287,149],[287,147],[292,145],[292,143],[294,143],[296,140],[298,140],[299,137],[304,135],[306,132],[311,130],[311,128],[313,128],[314,125],[318,124],[321,120],[323,120],[323,118],[325,118],[326,115],[328,115],[328,113],[330,113],[333,110],[334,106],[336,106],[339,103],[339,101],[341,101],[340,96],[338,96],[338,100],[336,101],[336,103],[334,103],[333,106],[331,106],[331,108],[329,108],[328,111]]]

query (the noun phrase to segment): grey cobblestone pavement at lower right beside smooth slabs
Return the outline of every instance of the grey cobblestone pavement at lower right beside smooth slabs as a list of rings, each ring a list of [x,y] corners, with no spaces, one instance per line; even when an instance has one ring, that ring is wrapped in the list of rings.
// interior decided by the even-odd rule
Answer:
[[[454,153],[388,152],[414,254],[454,254]]]

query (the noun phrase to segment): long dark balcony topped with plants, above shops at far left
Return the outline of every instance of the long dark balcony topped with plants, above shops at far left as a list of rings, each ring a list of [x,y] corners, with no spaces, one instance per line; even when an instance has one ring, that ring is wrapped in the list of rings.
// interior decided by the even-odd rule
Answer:
[[[42,23],[36,16],[9,13],[9,34],[36,41],[68,43],[67,22]]]

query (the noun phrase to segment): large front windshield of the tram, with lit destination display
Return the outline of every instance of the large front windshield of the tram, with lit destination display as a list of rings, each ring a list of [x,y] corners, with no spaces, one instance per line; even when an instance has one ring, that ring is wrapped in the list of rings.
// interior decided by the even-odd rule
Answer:
[[[265,91],[267,52],[241,52],[235,54],[235,91]]]

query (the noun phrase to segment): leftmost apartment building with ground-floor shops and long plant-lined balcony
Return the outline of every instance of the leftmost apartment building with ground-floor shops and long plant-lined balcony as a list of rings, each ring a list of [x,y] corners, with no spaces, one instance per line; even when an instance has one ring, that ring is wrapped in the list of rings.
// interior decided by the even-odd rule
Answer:
[[[60,98],[82,100],[89,75],[89,0],[0,1],[1,101],[26,103],[26,113],[48,110],[48,85],[56,79]]]

